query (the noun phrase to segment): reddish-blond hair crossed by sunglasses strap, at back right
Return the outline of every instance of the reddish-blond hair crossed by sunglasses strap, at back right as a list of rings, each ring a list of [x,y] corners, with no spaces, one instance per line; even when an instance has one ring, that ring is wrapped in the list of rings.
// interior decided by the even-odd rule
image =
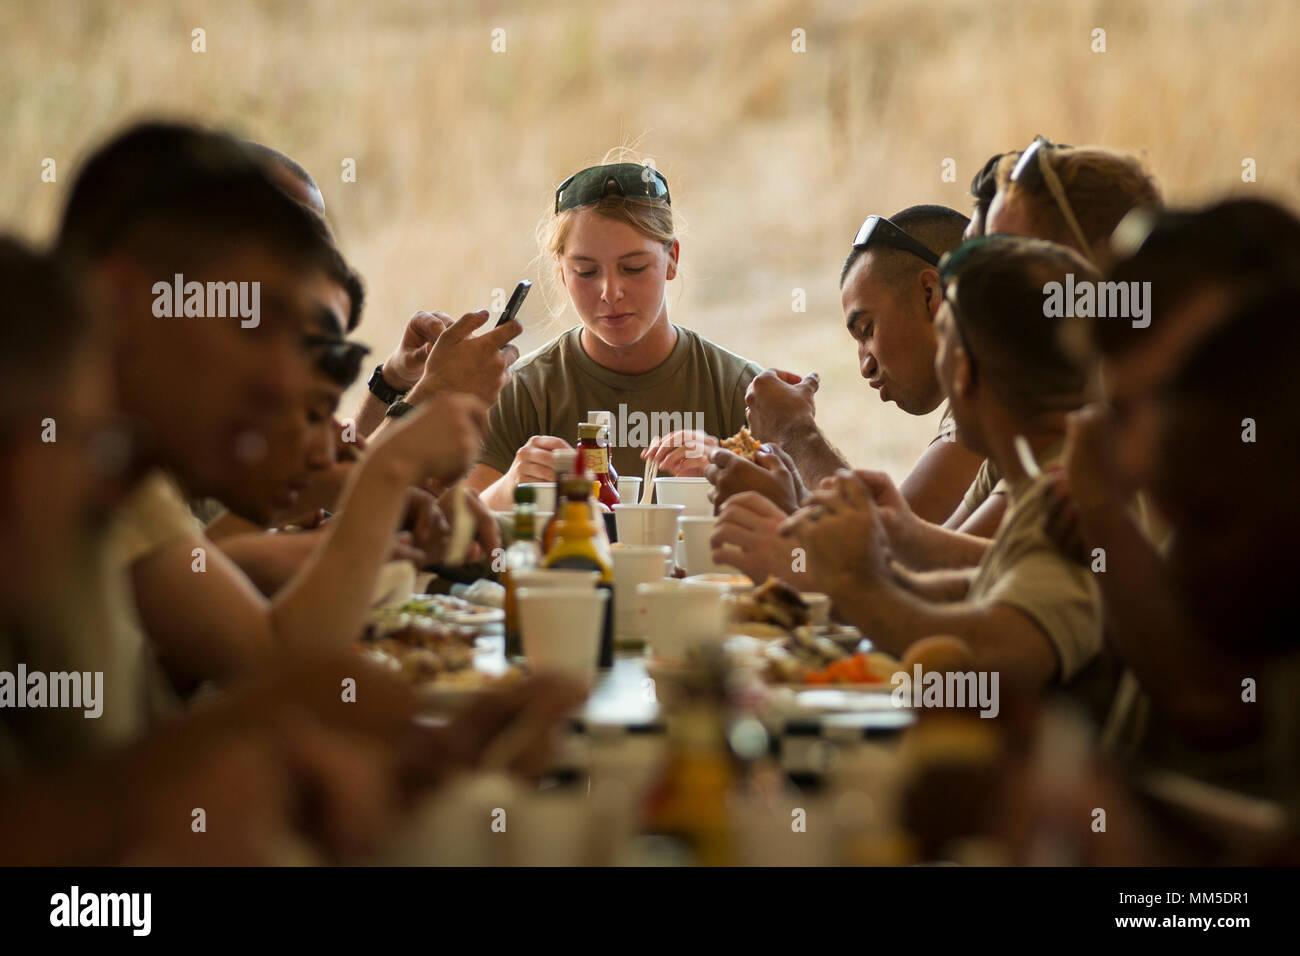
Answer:
[[[1056,146],[1040,153],[1061,179],[1066,199],[1079,220],[1079,228],[1092,248],[1101,247],[1119,225],[1119,221],[1138,207],[1158,207],[1160,187],[1135,156],[1098,147]],[[1037,160],[1035,160],[1037,161]],[[1040,176],[1010,182],[1014,164],[1001,161],[997,166],[997,186],[1004,191],[1022,191],[1034,200],[1030,216],[1035,234],[1045,239],[1074,246],[1075,238],[1065,213]]]

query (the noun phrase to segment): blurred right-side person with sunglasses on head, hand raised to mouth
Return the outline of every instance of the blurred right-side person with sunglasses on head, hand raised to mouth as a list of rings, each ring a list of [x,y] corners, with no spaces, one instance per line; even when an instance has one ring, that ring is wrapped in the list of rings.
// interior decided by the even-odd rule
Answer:
[[[1148,718],[1158,721],[1162,734],[1190,743],[1231,740],[1236,721],[1248,711],[1225,713],[1223,650],[1197,636],[1199,623],[1178,598],[1164,559],[1170,528],[1149,494],[1158,423],[1176,369],[1225,315],[1236,303],[1300,280],[1300,220],[1254,199],[1135,213],[1117,230],[1114,259],[1109,278],[1149,284],[1152,312],[1145,324],[1093,323],[1105,401],[1067,423],[1046,527],[1069,553],[1101,549],[1106,555],[1108,574],[1097,583],[1109,643],[1128,675],[1104,744],[1132,750]],[[1260,342],[1261,359],[1270,349],[1271,337]],[[1226,388],[1222,393],[1230,397]],[[1217,455],[1217,447],[1205,446],[1206,460]],[[1221,507],[1231,515],[1238,506],[1226,501]],[[1170,679],[1174,672],[1178,680]]]

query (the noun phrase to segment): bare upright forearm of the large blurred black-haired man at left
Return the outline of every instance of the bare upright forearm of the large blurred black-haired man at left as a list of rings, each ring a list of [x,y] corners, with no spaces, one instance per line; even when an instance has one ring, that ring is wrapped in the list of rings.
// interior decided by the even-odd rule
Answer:
[[[356,470],[324,544],[272,602],[274,632],[287,646],[338,649],[356,639],[413,479],[376,453]]]

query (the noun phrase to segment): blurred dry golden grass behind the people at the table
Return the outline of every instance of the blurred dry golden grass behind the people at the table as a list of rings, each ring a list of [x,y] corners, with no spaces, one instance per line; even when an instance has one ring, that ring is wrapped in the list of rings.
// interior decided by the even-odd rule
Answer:
[[[1296,36],[1295,0],[6,0],[0,222],[47,238],[79,157],[133,118],[225,126],[317,178],[382,355],[417,308],[459,315],[549,277],[534,230],[555,186],[634,146],[685,225],[673,320],[818,369],[832,440],[900,477],[937,416],[881,406],[858,377],[837,278],[861,220],[967,211],[983,161],[1037,133],[1140,152],[1175,202],[1295,204]],[[525,352],[576,321],[545,304],[524,308]]]

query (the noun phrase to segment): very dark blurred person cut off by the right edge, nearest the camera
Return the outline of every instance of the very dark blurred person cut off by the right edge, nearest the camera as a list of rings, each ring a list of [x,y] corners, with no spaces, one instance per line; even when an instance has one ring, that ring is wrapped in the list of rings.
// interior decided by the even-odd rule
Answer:
[[[1193,662],[1170,667],[1164,679],[1187,685],[1187,671],[1196,675],[1187,689],[1218,728],[1202,721],[1200,734],[1187,734],[1161,721],[1143,748],[1157,765],[1282,803],[1294,827],[1300,827],[1294,623],[1300,505],[1287,479],[1300,475],[1297,319],[1300,286],[1248,299],[1170,384],[1154,489],[1174,527],[1175,594],[1195,627],[1182,635],[1183,653],[1208,645],[1218,672]]]

